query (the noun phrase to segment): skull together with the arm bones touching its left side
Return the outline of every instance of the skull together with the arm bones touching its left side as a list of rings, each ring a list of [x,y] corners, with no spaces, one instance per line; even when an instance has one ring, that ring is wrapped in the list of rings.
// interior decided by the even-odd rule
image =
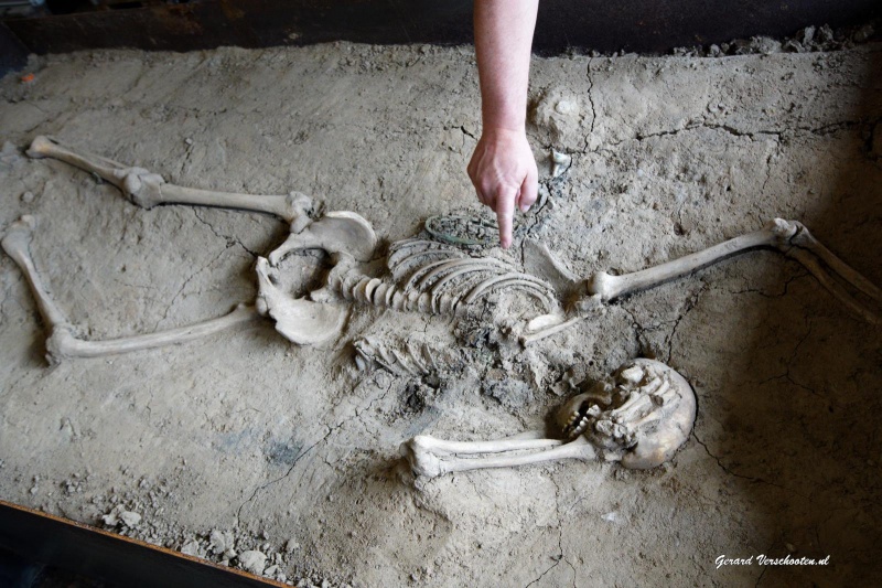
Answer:
[[[417,475],[507,468],[558,459],[621,461],[648,469],[670,460],[689,437],[696,397],[684,377],[654,360],[634,360],[615,377],[576,396],[559,411],[562,439],[534,431],[497,441],[459,442],[418,436],[401,446]],[[530,451],[509,455],[512,451]]]

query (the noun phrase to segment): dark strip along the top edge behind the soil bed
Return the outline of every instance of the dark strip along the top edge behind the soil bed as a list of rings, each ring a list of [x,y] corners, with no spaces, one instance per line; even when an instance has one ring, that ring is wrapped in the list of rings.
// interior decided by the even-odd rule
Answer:
[[[471,0],[47,0],[22,10],[0,14],[0,74],[28,53],[84,49],[472,42]],[[534,51],[666,53],[880,14],[879,0],[541,0]]]

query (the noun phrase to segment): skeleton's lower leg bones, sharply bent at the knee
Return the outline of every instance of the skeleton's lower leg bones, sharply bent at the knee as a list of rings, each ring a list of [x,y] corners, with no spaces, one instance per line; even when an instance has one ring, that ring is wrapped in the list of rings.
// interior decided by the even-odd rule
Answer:
[[[235,310],[224,317],[189,327],[105,341],[78,339],[74,334],[74,327],[52,300],[31,258],[30,244],[35,226],[36,222],[33,216],[22,216],[9,227],[0,244],[21,268],[36,299],[40,314],[51,333],[46,340],[46,360],[52,365],[71,357],[99,357],[183,343],[214,334],[235,324],[248,322],[257,317],[254,307],[238,304]]]

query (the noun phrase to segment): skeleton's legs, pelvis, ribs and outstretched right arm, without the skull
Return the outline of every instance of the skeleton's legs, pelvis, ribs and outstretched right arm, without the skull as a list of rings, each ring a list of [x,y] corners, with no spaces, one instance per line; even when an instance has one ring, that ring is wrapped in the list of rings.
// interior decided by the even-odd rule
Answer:
[[[47,137],[36,137],[28,153],[84,169],[117,186],[132,203],[144,209],[160,204],[220,206],[269,213],[290,223],[286,242],[267,258],[257,260],[259,290],[254,306],[239,304],[225,317],[190,327],[109,341],[76,336],[76,329],[52,301],[31,258],[29,243],[34,220],[24,217],[13,223],[2,246],[25,274],[37,300],[50,330],[46,346],[52,363],[189,341],[250,321],[257,314],[272,318],[276,329],[295,344],[318,344],[338,335],[349,303],[462,317],[483,310],[482,304],[497,291],[519,293],[534,301],[537,310],[512,329],[513,335],[528,345],[570,328],[602,304],[757,247],[774,247],[800,261],[853,312],[871,323],[880,322],[880,314],[852,296],[847,286],[874,303],[882,302],[879,288],[793,221],[776,218],[761,231],[680,259],[622,276],[600,271],[587,280],[567,270],[547,247],[531,242],[525,250],[530,274],[525,274],[499,259],[470,257],[448,244],[405,239],[389,247],[386,259],[389,276],[375,277],[363,269],[376,255],[377,237],[370,224],[345,211],[329,212],[314,220],[313,202],[304,194],[250,195],[178,186],[142,168],[77,152]],[[333,268],[324,287],[294,298],[278,286],[279,265],[287,255],[308,249],[329,254]]]

